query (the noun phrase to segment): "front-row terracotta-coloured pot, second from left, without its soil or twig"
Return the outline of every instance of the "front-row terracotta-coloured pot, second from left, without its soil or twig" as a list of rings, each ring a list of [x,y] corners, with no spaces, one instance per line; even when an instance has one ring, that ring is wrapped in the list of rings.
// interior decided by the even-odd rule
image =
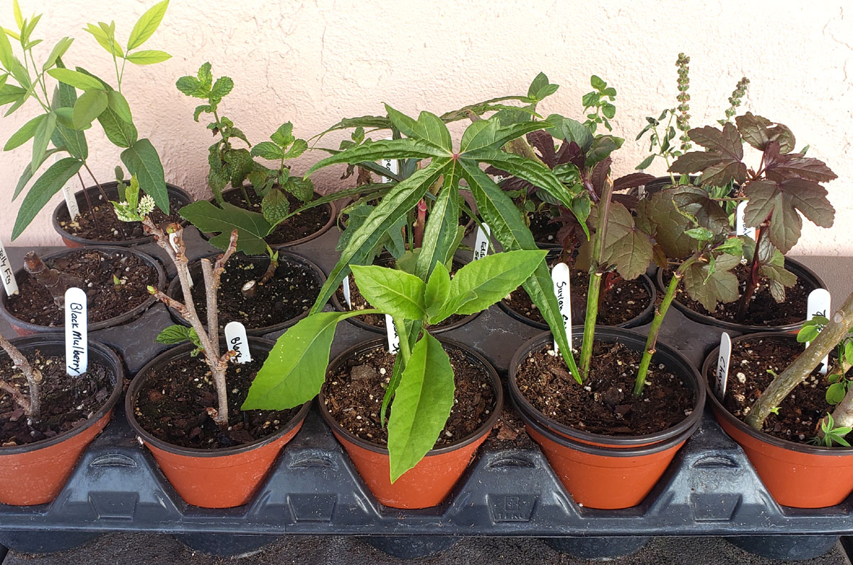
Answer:
[[[273,342],[249,337],[252,350],[269,352]],[[224,344],[224,343],[223,343]],[[136,421],[136,396],[150,372],[172,360],[189,358],[194,349],[184,343],[150,360],[136,373],[125,397],[125,413],[131,428],[142,439],[160,470],[187,503],[203,508],[231,508],[247,504],[276,461],[281,448],[293,439],[308,414],[310,402],[281,430],[260,440],[222,449],[178,447],[154,437]],[[180,377],[178,377],[180,378]]]

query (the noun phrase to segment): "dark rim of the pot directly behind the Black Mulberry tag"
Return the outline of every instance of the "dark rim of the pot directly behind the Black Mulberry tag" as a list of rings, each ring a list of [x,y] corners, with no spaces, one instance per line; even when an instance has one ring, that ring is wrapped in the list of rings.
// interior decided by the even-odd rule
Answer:
[[[158,290],[162,291],[165,288],[165,272],[163,271],[163,266],[160,265],[160,262],[154,259],[141,251],[136,251],[136,249],[128,248],[128,247],[116,247],[113,245],[87,245],[88,250],[91,251],[103,251],[104,253],[119,253],[126,255],[135,255],[142,259],[142,261],[148,263],[154,271],[157,273],[157,280],[150,281],[150,285],[156,287]],[[55,259],[60,257],[65,257],[69,253],[73,253],[78,251],[77,249],[67,250],[67,251],[59,251],[58,253],[52,253],[48,256],[42,257],[44,263],[50,267],[52,262]],[[23,280],[25,277],[29,277],[23,268],[19,268],[15,271],[15,279]],[[97,332],[98,330],[103,330],[107,327],[113,326],[121,326],[130,322],[131,320],[136,320],[143,312],[145,312],[148,308],[150,308],[154,303],[157,302],[157,298],[148,297],[145,302],[136,306],[136,308],[132,308],[128,310],[124,314],[120,314],[118,316],[113,316],[113,318],[109,318],[107,320],[102,320],[95,323],[89,324],[89,332]],[[62,329],[62,326],[39,326],[38,324],[32,324],[31,322],[20,320],[16,318],[11,312],[9,312],[9,297],[6,296],[5,292],[0,293],[0,316],[3,317],[4,320],[9,322],[9,325],[12,326],[12,329],[15,330],[19,336],[30,336],[34,333],[44,333],[44,332],[57,332]]]

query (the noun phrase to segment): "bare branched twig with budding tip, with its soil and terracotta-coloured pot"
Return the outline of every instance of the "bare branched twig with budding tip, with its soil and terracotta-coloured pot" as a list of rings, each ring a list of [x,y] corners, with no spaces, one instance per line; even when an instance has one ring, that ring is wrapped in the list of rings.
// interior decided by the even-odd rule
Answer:
[[[206,508],[246,504],[281,448],[299,431],[309,403],[293,410],[240,410],[248,385],[272,343],[259,338],[243,342],[237,337],[236,344],[225,344],[218,337],[217,291],[225,263],[236,251],[237,231],[231,233],[228,248],[215,263],[207,258],[201,260],[206,288],[205,325],[190,290],[183,228],[177,223],[165,229],[155,225],[148,217],[153,202],[147,195],[139,198],[134,179],[127,197],[127,201],[115,203],[119,218],[142,222],[157,245],[169,254],[181,281],[183,303],[154,287],[148,291],[191,324],[190,328],[165,328],[157,338],[160,343],[189,343],[168,349],[149,361],[131,382],[125,397],[131,428],[189,504]],[[247,356],[251,359],[246,360]],[[244,362],[229,362],[233,359]]]

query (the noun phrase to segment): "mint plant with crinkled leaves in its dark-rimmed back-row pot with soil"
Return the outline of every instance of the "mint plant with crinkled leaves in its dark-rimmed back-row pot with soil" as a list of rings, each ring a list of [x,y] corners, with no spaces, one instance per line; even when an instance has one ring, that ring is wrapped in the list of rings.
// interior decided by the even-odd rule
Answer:
[[[182,210],[184,218],[190,222],[194,218],[198,220],[215,215],[232,218],[234,227],[240,228],[241,232],[248,231],[247,222],[257,223],[256,229],[269,228],[262,235],[270,242],[270,257],[274,249],[305,243],[331,227],[334,207],[323,202],[322,205],[305,208],[303,205],[311,199],[320,197],[314,192],[310,180],[290,175],[286,161],[296,159],[308,149],[307,141],[293,136],[293,124],[282,124],[270,135],[270,141],[261,141],[252,147],[233,121],[219,116],[219,105],[234,88],[231,78],[214,80],[211,64],[206,62],[200,66],[196,76],[178,78],[176,85],[184,95],[206,101],[195,108],[193,118],[196,122],[202,113],[212,114],[213,121],[207,124],[207,129],[218,139],[208,149],[210,172],[207,185],[211,189],[213,203],[224,212],[218,214],[218,210],[212,210],[215,207],[212,202],[197,202]],[[247,147],[235,147],[237,141],[242,141]],[[270,169],[256,160],[258,158],[275,161],[277,166]],[[247,181],[251,182],[251,193],[247,191]],[[223,191],[229,184],[231,188]],[[299,210],[289,214],[293,208]],[[258,222],[258,216],[263,216],[266,223]],[[197,227],[205,232],[205,228]],[[227,240],[230,228],[215,231],[224,232],[220,239]],[[241,239],[245,236],[241,233]]]

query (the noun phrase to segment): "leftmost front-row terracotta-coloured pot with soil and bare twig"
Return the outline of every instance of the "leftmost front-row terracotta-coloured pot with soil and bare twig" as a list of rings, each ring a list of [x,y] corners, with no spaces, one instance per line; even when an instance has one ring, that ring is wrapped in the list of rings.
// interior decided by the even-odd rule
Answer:
[[[95,341],[88,343],[86,370],[75,376],[66,370],[61,335],[13,342],[0,336],[5,352],[0,357],[0,502],[46,504],[109,422],[124,371],[118,355]]]

